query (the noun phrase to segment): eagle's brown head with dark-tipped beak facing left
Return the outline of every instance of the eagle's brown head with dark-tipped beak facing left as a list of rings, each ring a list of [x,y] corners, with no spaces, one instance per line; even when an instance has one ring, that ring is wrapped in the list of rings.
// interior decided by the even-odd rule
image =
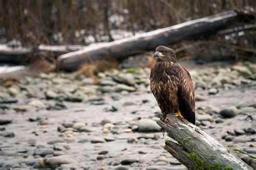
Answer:
[[[177,62],[176,54],[172,48],[165,46],[158,46],[156,52],[154,53],[154,58],[156,62]]]

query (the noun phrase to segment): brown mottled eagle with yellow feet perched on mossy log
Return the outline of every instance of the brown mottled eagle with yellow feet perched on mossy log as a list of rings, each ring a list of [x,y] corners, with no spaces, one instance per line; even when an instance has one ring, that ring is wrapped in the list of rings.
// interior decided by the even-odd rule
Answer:
[[[177,62],[171,48],[158,46],[154,58],[150,89],[161,109],[160,120],[165,121],[168,114],[175,114],[195,124],[194,86],[190,73]]]

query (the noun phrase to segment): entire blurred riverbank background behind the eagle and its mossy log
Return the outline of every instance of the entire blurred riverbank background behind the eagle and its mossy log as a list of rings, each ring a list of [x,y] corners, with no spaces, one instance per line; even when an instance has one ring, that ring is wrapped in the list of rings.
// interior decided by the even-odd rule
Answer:
[[[150,69],[163,44],[191,74],[196,125],[255,157],[255,8],[0,0],[0,169],[186,169],[156,124]]]

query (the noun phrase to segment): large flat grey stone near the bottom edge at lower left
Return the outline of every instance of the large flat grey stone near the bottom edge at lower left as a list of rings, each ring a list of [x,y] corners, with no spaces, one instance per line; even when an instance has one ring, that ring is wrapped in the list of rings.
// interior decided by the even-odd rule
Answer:
[[[50,157],[44,160],[44,164],[49,168],[57,168],[62,164],[76,163],[76,160],[71,155],[60,155],[57,157]]]

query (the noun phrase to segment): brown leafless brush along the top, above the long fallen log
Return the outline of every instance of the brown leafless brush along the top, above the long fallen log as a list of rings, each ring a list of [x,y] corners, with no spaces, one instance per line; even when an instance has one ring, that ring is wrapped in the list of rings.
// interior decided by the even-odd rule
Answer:
[[[255,1],[198,0],[0,0],[0,38],[23,45],[86,44],[112,41],[111,30],[151,31],[233,9],[242,11]],[[119,38],[126,37],[123,32]]]

